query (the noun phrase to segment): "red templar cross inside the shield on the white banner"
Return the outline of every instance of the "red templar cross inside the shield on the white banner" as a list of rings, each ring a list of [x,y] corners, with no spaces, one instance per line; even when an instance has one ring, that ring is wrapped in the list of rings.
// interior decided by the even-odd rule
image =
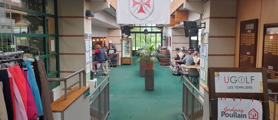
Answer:
[[[140,0],[139,2],[132,0],[133,1],[133,7],[134,8],[136,5],[137,6],[137,10],[140,7],[139,11],[137,13],[146,13],[145,10],[147,10],[147,12],[150,12],[147,7],[151,8],[150,6],[150,0]]]

